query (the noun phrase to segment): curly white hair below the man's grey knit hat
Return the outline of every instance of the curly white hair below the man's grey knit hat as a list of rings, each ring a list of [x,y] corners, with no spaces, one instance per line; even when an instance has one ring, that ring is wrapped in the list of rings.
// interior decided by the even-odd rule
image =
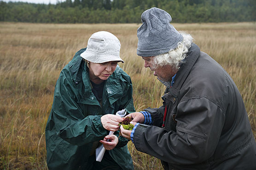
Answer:
[[[181,63],[185,62],[188,49],[191,47],[194,38],[190,34],[180,32],[183,36],[183,41],[178,43],[176,49],[170,49],[168,53],[156,55],[153,59],[153,67],[170,65],[174,70],[179,70]]]

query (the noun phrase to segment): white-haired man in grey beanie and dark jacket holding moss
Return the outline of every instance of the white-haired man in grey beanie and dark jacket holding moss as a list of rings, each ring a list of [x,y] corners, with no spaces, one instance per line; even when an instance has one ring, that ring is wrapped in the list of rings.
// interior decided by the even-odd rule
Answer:
[[[167,88],[163,106],[128,115],[135,126],[121,126],[122,136],[165,170],[256,170],[256,142],[232,78],[166,11],[151,8],[141,20],[137,55]]]

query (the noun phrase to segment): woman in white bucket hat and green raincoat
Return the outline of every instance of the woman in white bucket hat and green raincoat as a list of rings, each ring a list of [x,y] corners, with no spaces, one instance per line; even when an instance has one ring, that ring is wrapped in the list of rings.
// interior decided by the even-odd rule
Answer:
[[[93,33],[61,71],[46,126],[49,170],[134,169],[128,140],[116,132],[123,120],[116,112],[134,112],[131,79],[117,65],[120,47],[112,33]],[[100,143],[106,152],[97,162]]]

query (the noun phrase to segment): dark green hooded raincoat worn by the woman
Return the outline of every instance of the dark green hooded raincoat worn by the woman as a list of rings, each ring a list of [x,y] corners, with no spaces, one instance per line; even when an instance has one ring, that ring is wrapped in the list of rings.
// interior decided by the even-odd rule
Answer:
[[[101,116],[126,109],[134,112],[132,82],[119,66],[105,81],[102,104],[94,96],[87,66],[80,54],[61,71],[55,86],[52,110],[46,126],[47,165],[50,170],[87,169],[93,142],[109,134]],[[102,106],[101,106],[102,105]],[[114,133],[117,137],[119,131]],[[124,170],[133,170],[128,140],[120,136],[111,157]],[[96,158],[95,158],[96,159]]]

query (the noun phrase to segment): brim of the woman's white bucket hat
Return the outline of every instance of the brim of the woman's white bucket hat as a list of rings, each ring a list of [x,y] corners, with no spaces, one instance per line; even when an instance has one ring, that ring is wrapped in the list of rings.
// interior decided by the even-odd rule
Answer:
[[[107,54],[107,53],[97,53],[94,54],[90,52],[89,50],[85,50],[80,55],[82,58],[84,58],[87,61],[93,62],[93,63],[105,63],[110,61],[118,61],[124,63],[124,61],[120,58],[119,55],[113,55],[113,54]]]

